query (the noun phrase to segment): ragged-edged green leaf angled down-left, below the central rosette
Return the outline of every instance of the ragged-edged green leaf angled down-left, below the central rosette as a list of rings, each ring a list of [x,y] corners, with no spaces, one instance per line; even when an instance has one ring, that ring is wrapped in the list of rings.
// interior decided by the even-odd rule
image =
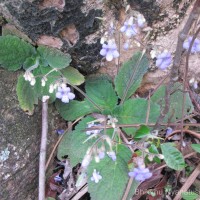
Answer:
[[[63,136],[62,141],[58,146],[58,159],[62,159],[63,156],[69,155],[72,166],[75,166],[82,161],[88,148],[95,142],[95,139],[90,139],[83,143],[88,138],[85,130],[87,128],[87,123],[93,120],[93,117],[82,119],[73,132]]]

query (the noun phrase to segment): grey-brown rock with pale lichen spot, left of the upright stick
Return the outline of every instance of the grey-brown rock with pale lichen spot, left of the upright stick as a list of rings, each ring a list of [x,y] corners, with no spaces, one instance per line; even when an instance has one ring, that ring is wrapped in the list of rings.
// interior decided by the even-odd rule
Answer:
[[[19,73],[0,68],[0,199],[37,199],[41,109],[28,116],[19,107],[16,82]],[[55,144],[56,117],[49,115],[48,151]]]

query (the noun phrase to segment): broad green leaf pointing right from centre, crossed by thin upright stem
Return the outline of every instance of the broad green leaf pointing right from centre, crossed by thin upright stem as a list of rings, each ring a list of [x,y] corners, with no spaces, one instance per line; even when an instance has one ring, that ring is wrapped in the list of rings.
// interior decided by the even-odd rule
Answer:
[[[123,105],[119,105],[113,111],[117,117],[119,124],[142,124],[146,122],[148,110],[148,101],[146,99],[137,98],[129,99]],[[148,123],[155,123],[160,115],[160,107],[151,102]],[[135,134],[135,128],[123,128],[128,135]]]

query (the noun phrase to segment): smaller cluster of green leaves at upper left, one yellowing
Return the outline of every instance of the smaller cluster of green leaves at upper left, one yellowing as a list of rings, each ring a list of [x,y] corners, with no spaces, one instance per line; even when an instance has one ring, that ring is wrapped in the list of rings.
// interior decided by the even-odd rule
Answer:
[[[50,96],[49,102],[56,99],[55,91],[50,94],[49,86],[55,83],[59,78],[66,78],[71,85],[80,85],[84,82],[84,77],[78,70],[69,66],[71,57],[55,48],[47,46],[33,47],[24,40],[6,35],[0,37],[0,64],[1,67],[17,71],[23,67],[24,70],[30,69],[38,62],[31,71],[36,77],[36,84],[31,86],[25,81],[23,75],[20,75],[17,83],[17,95],[21,108],[30,114],[34,111],[34,105],[42,96]],[[41,79],[47,75],[45,86],[41,85]]]

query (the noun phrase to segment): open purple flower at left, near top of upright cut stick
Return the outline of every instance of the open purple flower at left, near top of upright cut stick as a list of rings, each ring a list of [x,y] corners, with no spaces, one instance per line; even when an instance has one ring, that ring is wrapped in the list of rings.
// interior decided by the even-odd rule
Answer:
[[[70,91],[71,89],[67,87],[66,84],[62,84],[60,87],[58,87],[56,98],[61,99],[63,103],[69,103],[69,100],[75,98],[75,95]]]

